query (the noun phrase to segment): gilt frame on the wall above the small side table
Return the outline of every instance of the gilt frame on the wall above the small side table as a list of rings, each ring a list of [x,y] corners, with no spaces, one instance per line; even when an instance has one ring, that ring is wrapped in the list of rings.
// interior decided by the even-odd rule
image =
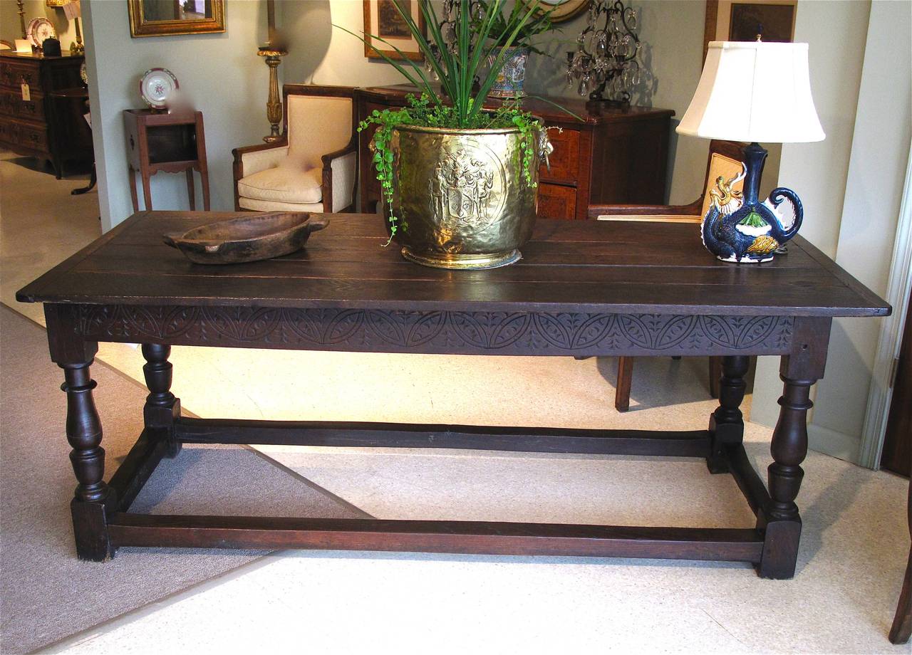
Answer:
[[[127,0],[127,6],[134,38],[225,31],[225,0]]]

